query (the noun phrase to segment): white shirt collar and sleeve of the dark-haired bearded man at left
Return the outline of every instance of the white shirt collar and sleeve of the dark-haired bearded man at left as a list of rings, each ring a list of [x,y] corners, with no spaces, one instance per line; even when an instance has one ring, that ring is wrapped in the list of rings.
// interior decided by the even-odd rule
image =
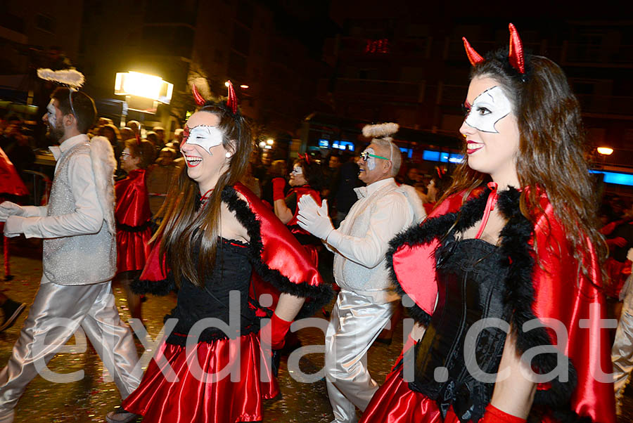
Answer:
[[[75,145],[88,143],[86,134],[68,138],[59,146],[50,147],[53,157],[59,163],[60,157]],[[57,165],[55,167],[57,171]],[[75,212],[61,216],[46,216],[46,206],[24,207],[22,229],[25,237],[55,238],[72,235],[98,233],[103,223],[103,211],[99,204],[92,162],[88,155],[77,155],[68,165],[68,178],[72,186],[77,208]]]

